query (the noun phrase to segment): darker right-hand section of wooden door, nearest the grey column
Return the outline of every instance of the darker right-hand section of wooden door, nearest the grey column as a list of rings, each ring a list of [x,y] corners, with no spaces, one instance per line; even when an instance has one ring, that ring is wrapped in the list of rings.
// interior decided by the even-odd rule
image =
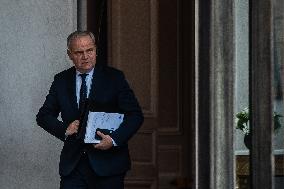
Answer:
[[[160,189],[189,188],[194,172],[194,1],[159,1],[157,163]]]

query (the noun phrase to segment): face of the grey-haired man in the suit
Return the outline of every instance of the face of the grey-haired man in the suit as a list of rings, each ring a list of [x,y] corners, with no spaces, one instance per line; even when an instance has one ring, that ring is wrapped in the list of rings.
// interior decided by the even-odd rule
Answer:
[[[91,71],[96,64],[96,46],[92,38],[82,36],[73,39],[68,50],[68,56],[79,72]]]

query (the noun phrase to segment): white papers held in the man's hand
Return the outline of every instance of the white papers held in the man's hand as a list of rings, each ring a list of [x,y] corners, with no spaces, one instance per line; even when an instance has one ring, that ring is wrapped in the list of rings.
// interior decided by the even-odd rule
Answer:
[[[89,112],[84,142],[100,143],[96,131],[112,133],[120,126],[123,117],[124,114],[119,113]]]

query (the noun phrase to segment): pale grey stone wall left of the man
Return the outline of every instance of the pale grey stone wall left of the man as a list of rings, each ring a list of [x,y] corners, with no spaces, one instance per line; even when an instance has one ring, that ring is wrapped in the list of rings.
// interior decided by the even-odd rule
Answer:
[[[1,0],[2,189],[58,188],[62,143],[35,116],[53,75],[70,66],[65,41],[76,27],[75,6],[74,0]]]

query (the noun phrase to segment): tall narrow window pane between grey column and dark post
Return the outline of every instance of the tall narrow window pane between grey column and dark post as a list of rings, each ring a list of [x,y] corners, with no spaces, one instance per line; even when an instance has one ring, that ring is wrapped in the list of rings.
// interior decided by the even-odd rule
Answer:
[[[248,112],[249,104],[249,3],[247,0],[236,1],[236,180],[237,188],[248,188],[249,149],[245,145],[248,123],[241,124]],[[242,112],[242,113],[240,113]],[[240,114],[239,114],[240,113]],[[242,114],[242,115],[241,115]],[[247,138],[248,136],[246,136]]]

